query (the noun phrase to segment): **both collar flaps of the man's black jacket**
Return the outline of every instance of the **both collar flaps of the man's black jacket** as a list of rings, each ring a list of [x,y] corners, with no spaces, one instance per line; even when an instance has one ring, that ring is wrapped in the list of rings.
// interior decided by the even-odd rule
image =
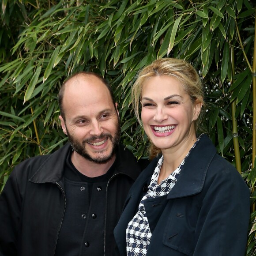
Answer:
[[[68,152],[71,150],[70,143],[55,151],[53,154],[45,156],[45,161],[30,178],[34,183],[56,183],[63,178],[65,162]],[[117,148],[115,173],[123,173],[131,177],[134,181],[138,177],[140,169],[136,164],[136,158],[122,144]]]

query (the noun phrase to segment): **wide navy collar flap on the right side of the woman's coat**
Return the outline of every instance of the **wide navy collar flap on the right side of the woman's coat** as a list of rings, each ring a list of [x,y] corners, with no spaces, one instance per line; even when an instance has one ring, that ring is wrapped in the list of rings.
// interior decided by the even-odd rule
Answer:
[[[211,140],[202,135],[184,163],[183,170],[167,199],[192,196],[202,191],[207,169],[216,154]]]

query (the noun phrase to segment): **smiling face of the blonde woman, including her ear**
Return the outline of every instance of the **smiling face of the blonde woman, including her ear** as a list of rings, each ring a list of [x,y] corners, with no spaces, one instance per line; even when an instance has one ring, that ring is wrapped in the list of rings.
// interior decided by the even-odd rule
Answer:
[[[176,150],[192,146],[196,139],[193,121],[202,104],[191,102],[179,80],[168,75],[150,78],[143,84],[141,103],[144,130],[156,147]]]

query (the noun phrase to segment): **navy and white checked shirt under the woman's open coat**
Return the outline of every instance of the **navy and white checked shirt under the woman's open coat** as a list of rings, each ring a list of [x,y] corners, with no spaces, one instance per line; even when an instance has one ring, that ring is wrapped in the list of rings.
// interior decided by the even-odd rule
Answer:
[[[132,220],[128,223],[126,229],[126,250],[127,256],[146,256],[147,248],[151,241],[151,230],[147,220],[147,214],[144,207],[145,200],[149,198],[155,198],[158,196],[165,196],[168,194],[173,186],[176,184],[177,177],[181,173],[182,166],[191,150],[196,146],[200,138],[191,147],[188,154],[185,156],[178,168],[169,175],[165,180],[161,181],[158,185],[158,177],[160,169],[163,163],[163,156],[158,160],[158,163],[154,169],[154,173],[151,177],[150,185],[148,187],[147,194],[143,196],[139,203],[139,210]]]

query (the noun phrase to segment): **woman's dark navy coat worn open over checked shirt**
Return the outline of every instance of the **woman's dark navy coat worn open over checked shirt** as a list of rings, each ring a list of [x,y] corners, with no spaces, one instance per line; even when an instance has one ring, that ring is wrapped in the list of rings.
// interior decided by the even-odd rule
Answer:
[[[133,184],[114,230],[126,255],[125,230],[138,211],[158,162]],[[169,194],[145,201],[152,231],[147,256],[244,256],[249,223],[249,189],[237,170],[202,136]]]

